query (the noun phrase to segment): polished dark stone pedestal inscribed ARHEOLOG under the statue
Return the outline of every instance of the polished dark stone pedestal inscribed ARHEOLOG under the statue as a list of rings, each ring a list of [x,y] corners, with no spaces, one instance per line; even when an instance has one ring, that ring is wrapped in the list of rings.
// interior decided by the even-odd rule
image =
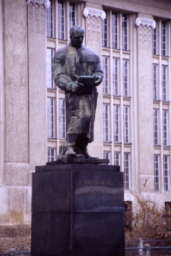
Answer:
[[[32,256],[124,256],[119,166],[37,166],[32,180]]]

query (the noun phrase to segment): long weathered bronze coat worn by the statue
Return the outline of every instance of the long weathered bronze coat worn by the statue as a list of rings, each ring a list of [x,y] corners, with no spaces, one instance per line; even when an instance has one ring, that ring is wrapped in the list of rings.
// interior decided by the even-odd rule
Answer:
[[[66,134],[86,134],[89,142],[94,140],[94,119],[97,106],[96,86],[90,86],[80,94],[71,91],[71,82],[79,76],[100,76],[103,80],[99,56],[93,50],[82,46],[75,48],[71,43],[59,49],[53,58],[55,84],[65,91]]]

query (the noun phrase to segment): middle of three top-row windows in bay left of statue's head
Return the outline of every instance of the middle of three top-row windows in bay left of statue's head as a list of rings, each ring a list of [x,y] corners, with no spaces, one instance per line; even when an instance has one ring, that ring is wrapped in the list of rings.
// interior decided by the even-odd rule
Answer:
[[[64,2],[58,1],[58,39],[65,39],[65,24],[64,24]]]

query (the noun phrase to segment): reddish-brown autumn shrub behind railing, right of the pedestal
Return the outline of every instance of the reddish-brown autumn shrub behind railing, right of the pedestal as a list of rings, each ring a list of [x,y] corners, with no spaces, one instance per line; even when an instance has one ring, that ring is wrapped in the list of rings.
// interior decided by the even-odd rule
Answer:
[[[126,239],[165,240],[165,246],[171,246],[171,206],[166,204],[159,208],[155,202],[134,196],[136,203],[133,207],[130,202],[125,202]]]

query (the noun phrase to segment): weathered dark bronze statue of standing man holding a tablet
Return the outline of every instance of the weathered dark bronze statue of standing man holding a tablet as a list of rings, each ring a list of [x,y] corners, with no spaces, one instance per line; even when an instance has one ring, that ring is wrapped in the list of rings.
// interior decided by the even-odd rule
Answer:
[[[66,103],[66,142],[59,153],[89,158],[87,145],[94,140],[96,86],[103,80],[103,71],[99,56],[82,46],[84,34],[80,26],[70,29],[70,44],[59,49],[53,58],[53,78],[65,91]]]

